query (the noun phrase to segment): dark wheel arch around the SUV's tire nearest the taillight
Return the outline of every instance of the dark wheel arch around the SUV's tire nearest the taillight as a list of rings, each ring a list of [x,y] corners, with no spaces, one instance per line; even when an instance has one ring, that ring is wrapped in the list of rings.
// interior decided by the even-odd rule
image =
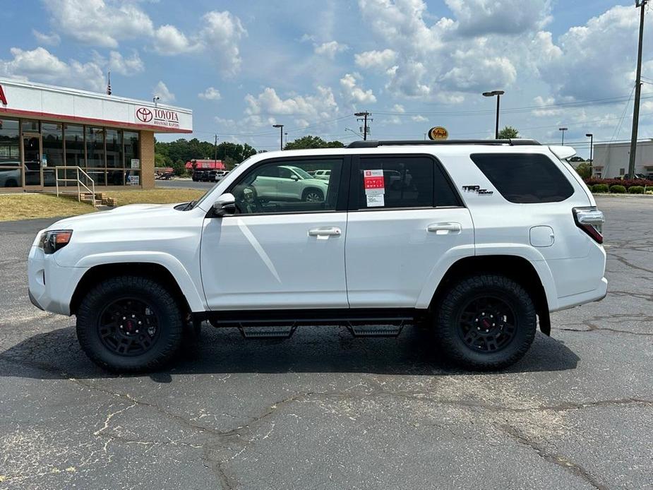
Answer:
[[[431,308],[436,307],[451,282],[471,275],[495,273],[505,275],[519,282],[531,295],[542,333],[551,335],[549,300],[540,273],[527,258],[510,255],[469,256],[453,263],[439,282],[431,299]]]

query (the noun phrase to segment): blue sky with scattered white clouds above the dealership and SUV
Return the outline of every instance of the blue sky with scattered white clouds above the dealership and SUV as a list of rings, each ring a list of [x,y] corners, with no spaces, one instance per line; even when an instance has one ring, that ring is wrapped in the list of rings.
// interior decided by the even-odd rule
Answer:
[[[653,17],[640,138],[653,138]],[[306,134],[630,138],[639,15],[606,0],[4,0],[0,76],[193,110],[193,136],[278,148]],[[184,135],[160,135],[169,141]],[[187,136],[184,136],[187,137]]]

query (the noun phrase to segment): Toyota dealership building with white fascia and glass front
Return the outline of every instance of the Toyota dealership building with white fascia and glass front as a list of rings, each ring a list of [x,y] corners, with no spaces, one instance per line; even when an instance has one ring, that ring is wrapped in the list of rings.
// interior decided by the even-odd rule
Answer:
[[[0,191],[152,189],[155,133],[192,132],[190,109],[0,78]]]

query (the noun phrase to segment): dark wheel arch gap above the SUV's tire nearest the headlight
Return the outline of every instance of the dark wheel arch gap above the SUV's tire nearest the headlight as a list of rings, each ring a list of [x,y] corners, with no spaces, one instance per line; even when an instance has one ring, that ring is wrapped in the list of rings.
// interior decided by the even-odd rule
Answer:
[[[164,265],[154,262],[116,262],[94,265],[84,273],[71,297],[70,313],[77,312],[84,294],[97,282],[121,275],[149,277],[157,280],[174,296],[182,311],[186,313],[194,311],[193,305],[188,301],[190,295],[184,293],[176,277]]]

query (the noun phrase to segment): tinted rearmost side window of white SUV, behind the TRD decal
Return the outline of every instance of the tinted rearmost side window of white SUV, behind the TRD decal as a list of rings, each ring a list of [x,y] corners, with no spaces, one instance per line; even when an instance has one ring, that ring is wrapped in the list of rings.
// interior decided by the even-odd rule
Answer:
[[[475,153],[470,157],[511,203],[558,203],[574,193],[564,174],[546,155]]]

